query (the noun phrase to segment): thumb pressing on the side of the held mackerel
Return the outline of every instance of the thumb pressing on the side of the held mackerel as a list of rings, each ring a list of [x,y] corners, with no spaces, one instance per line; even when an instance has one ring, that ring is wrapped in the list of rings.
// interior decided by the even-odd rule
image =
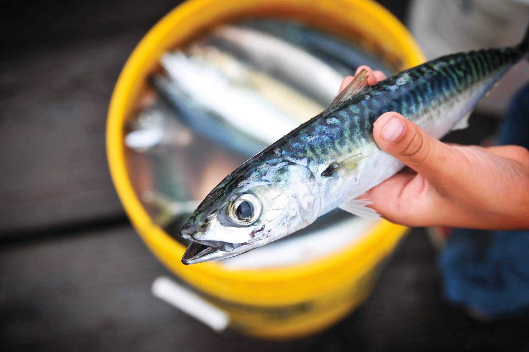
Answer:
[[[373,136],[380,149],[434,183],[450,180],[457,170],[452,147],[397,112],[382,114],[373,125]]]

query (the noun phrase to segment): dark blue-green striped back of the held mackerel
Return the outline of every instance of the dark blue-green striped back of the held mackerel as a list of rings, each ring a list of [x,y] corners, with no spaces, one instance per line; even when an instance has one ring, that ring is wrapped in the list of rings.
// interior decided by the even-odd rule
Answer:
[[[396,111],[408,118],[435,108],[473,85],[490,81],[523,56],[517,48],[470,51],[443,56],[367,87],[359,95],[298,127],[263,152],[260,161],[326,160],[372,141],[375,120]]]

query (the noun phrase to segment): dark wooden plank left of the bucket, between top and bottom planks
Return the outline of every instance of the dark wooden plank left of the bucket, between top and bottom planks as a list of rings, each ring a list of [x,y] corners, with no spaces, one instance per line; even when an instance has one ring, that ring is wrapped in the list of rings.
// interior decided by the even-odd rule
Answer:
[[[0,232],[122,214],[106,165],[106,110],[140,37],[11,53],[0,72]]]

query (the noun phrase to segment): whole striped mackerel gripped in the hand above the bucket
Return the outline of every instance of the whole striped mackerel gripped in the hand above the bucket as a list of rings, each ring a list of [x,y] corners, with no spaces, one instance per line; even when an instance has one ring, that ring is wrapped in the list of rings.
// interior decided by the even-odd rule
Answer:
[[[355,199],[403,164],[373,139],[373,124],[396,111],[436,138],[465,128],[470,112],[529,51],[470,51],[429,61],[367,84],[361,71],[320,115],[280,138],[228,175],[180,231],[193,241],[185,264],[236,256],[287,236],[340,207],[376,217]]]

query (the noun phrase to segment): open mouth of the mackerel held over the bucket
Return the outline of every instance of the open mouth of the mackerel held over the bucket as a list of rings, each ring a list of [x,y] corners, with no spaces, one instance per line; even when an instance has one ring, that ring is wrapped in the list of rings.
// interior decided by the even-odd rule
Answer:
[[[182,257],[185,265],[202,263],[209,260],[225,259],[250,250],[244,248],[242,244],[232,244],[227,242],[199,243],[191,241]]]

